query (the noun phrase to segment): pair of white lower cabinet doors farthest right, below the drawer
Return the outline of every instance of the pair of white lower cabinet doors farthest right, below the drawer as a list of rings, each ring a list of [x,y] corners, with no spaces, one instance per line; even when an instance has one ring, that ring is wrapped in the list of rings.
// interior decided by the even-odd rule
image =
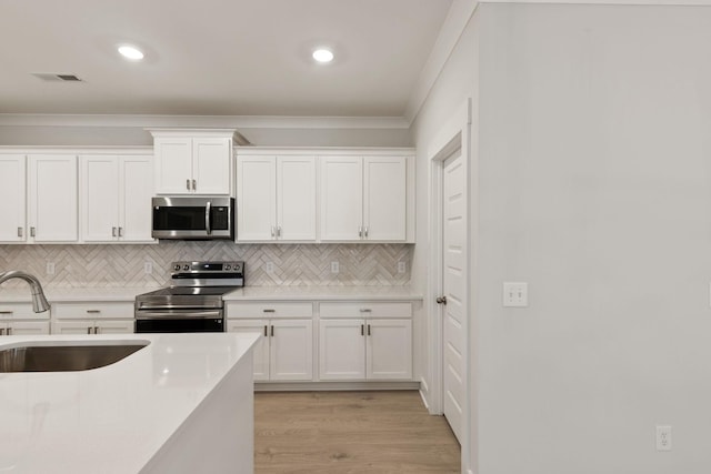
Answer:
[[[411,380],[412,321],[321,320],[319,379]]]

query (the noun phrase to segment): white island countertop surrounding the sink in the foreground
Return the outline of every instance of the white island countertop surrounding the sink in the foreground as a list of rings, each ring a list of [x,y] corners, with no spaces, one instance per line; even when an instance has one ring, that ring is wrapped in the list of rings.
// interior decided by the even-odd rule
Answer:
[[[149,341],[112,365],[0,373],[0,472],[138,473],[258,341],[254,333],[7,336]]]

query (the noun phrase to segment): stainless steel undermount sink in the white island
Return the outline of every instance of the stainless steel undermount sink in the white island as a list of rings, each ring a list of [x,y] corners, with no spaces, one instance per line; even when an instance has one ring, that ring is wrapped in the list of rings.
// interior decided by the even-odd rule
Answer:
[[[103,367],[146,347],[127,344],[21,345],[0,350],[1,372],[71,372]]]

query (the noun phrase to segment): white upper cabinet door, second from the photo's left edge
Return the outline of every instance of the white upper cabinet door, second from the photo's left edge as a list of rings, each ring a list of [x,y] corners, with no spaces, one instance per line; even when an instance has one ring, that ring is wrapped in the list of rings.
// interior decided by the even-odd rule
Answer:
[[[77,157],[29,157],[29,226],[34,242],[77,242]]]

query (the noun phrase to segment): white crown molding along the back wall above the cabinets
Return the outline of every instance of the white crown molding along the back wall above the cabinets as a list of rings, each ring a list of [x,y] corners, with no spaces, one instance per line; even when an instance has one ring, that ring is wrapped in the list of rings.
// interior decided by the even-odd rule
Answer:
[[[0,113],[0,127],[408,129],[401,117],[251,117]]]

